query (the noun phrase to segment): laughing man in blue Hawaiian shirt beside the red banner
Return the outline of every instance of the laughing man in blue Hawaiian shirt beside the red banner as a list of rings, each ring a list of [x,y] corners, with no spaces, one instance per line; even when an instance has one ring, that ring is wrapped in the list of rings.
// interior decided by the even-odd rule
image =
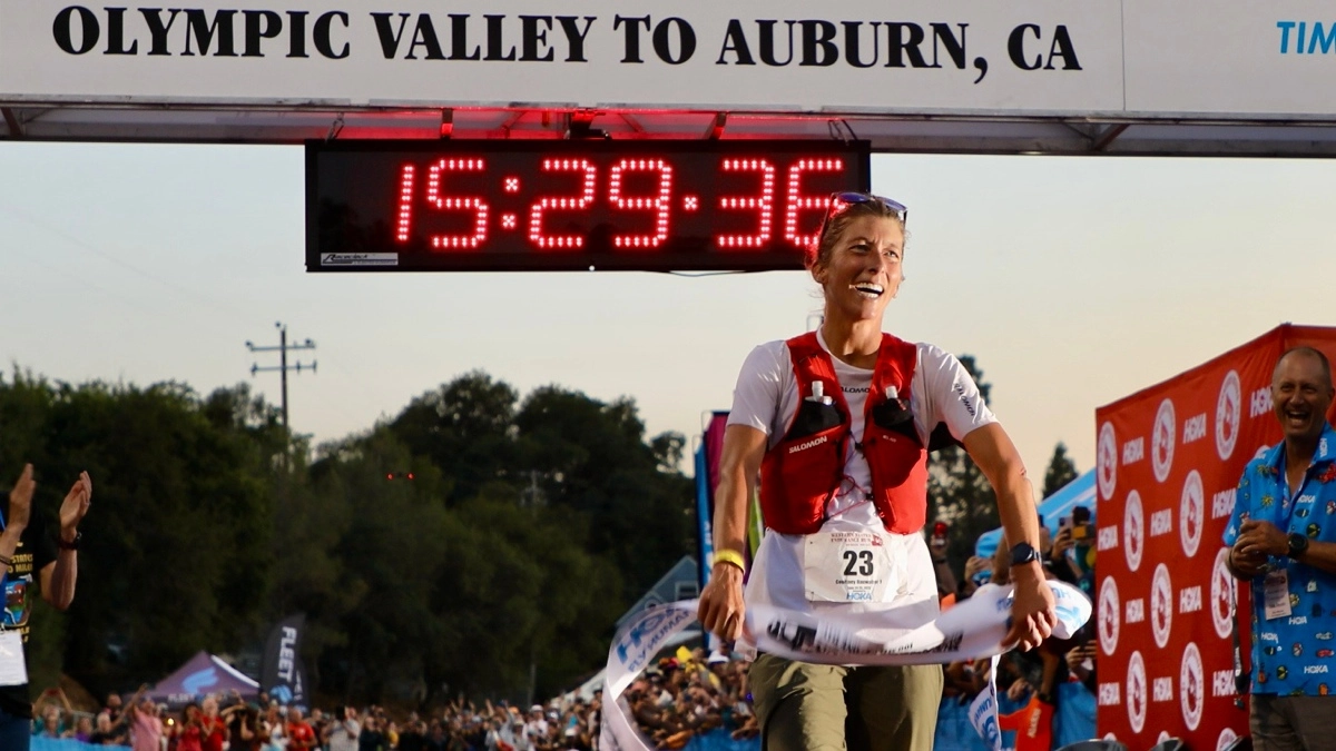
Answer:
[[[1225,529],[1229,569],[1252,585],[1252,715],[1257,751],[1336,742],[1336,432],[1331,365],[1313,347],[1281,355],[1271,398],[1285,440],[1248,462]]]

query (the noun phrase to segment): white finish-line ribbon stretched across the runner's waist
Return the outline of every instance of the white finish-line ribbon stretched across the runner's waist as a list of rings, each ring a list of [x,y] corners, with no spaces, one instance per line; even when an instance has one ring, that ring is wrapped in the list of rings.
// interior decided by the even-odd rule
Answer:
[[[1088,620],[1092,604],[1079,589],[1050,581],[1058,623],[1055,639],[1070,639]],[[999,655],[1011,617],[1011,587],[985,585],[937,620],[918,628],[884,628],[888,613],[822,616],[749,607],[747,633],[762,652],[791,660],[834,665],[910,665],[951,663]],[[603,751],[647,751],[635,723],[619,703],[621,694],[659,649],[696,620],[696,601],[651,608],[623,624],[608,649],[604,673]],[[995,667],[995,665],[994,665]],[[970,722],[994,748],[997,690],[990,686],[970,706]]]

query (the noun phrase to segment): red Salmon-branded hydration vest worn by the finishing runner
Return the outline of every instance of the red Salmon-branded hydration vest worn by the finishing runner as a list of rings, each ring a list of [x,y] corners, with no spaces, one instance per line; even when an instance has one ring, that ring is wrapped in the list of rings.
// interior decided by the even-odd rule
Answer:
[[[844,445],[850,438],[850,410],[844,390],[835,377],[830,353],[816,341],[816,333],[786,342],[798,381],[798,409],[788,432],[775,448],[766,452],[760,465],[760,508],[766,527],[784,535],[812,535],[826,521],[826,506],[844,482]],[[887,389],[895,388],[900,414],[910,404],[910,381],[918,365],[918,346],[882,334],[882,349],[872,370],[872,389],[863,412],[863,440],[855,442],[872,470],[872,504],[886,529],[911,535],[923,528],[927,517],[927,452],[918,432],[898,432],[878,425],[872,410],[887,402]],[[826,410],[835,409],[839,424],[807,434],[795,434],[800,417],[820,410],[820,402],[807,401],[812,384],[820,382],[831,398]],[[802,432],[802,430],[799,430]]]

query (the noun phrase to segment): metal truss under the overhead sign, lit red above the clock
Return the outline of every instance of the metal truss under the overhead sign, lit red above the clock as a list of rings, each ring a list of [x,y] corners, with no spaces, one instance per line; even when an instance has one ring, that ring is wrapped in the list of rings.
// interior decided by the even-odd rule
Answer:
[[[1238,120],[1002,114],[150,106],[0,100],[0,139],[278,143],[322,139],[856,139],[876,152],[1336,158],[1336,118]]]

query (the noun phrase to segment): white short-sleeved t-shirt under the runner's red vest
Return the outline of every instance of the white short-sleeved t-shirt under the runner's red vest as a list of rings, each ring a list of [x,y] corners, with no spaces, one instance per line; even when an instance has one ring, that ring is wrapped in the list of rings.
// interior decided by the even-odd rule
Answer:
[[[820,333],[816,341],[827,353],[830,347]],[[863,436],[863,409],[872,385],[872,371],[854,367],[831,357],[835,377],[848,404],[852,436]],[[788,432],[799,400],[798,381],[788,345],[783,341],[767,342],[747,355],[728,425],[745,425],[768,436],[774,448]],[[919,440],[927,446],[929,436],[938,424],[946,424],[957,440],[963,440],[978,428],[997,422],[979,394],[974,378],[955,355],[927,343],[918,345],[918,363],[910,381],[910,412]],[[848,441],[844,454],[844,474],[848,481],[836,490],[822,531],[884,531],[876,508],[867,500],[872,486],[872,473],[867,460]],[[933,559],[922,535],[891,535],[886,532],[891,560],[898,567],[896,587],[886,592],[880,603],[812,603],[807,600],[803,580],[803,536],[779,535],[766,531],[756,561],[747,580],[745,600],[780,608],[816,612],[838,608],[840,612],[870,612],[896,609],[895,624],[904,628],[922,625],[937,617],[937,577]]]

